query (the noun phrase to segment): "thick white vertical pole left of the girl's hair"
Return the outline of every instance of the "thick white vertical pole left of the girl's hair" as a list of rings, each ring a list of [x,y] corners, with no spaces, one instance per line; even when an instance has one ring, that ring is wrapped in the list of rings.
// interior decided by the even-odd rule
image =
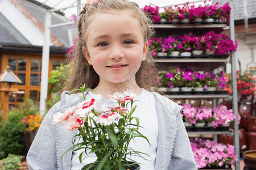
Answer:
[[[42,55],[42,70],[41,70],[41,90],[40,90],[40,114],[46,113],[46,101],[48,90],[48,72],[49,72],[49,46],[51,39],[51,12],[47,11],[44,18],[44,45]]]

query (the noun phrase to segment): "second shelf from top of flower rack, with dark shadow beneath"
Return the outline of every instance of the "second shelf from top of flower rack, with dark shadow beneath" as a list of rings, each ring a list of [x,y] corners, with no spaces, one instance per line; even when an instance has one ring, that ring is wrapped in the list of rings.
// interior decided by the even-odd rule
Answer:
[[[164,69],[172,70],[179,68],[191,68],[195,71],[214,70],[225,63],[229,63],[228,58],[156,58],[156,63],[164,63]],[[175,63],[175,64],[172,64]],[[159,65],[159,64],[158,64]],[[160,65],[161,66],[161,65]]]

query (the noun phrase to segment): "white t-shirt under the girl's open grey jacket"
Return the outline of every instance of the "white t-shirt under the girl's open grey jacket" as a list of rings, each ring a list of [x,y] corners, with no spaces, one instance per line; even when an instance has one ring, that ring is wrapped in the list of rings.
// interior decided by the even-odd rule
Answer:
[[[92,93],[92,91],[89,91],[85,98],[86,100],[90,100],[94,96],[95,95]],[[114,103],[117,103],[116,100],[102,98],[101,101],[97,103],[96,108],[104,108],[108,107],[109,105],[113,107]],[[147,143],[146,139],[138,137],[135,138],[135,140],[131,140],[129,147],[133,148],[133,150],[135,151],[146,153],[150,155],[151,158],[147,155],[143,155],[143,157],[147,160],[138,156],[131,156],[131,159],[136,160],[138,163],[141,163],[141,170],[154,169],[156,150],[158,147],[158,118],[155,110],[154,95],[151,94],[151,92],[142,89],[142,93],[135,97],[133,105],[137,105],[137,108],[133,113],[133,117],[138,117],[139,125],[143,127],[140,128],[139,131],[145,137],[147,137],[148,141],[150,141],[151,146]],[[75,143],[76,142],[77,141],[75,141]],[[80,139],[80,141],[78,142],[82,142],[82,139]],[[86,158],[82,161],[82,164],[80,164],[79,155],[81,154],[81,152],[82,150],[72,152],[72,170],[81,169],[84,165],[93,163],[97,160],[95,154],[83,154],[82,159],[85,157]]]

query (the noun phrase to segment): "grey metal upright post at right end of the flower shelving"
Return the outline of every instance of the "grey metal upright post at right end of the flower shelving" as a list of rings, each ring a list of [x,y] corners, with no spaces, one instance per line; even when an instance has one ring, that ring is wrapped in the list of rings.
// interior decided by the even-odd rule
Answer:
[[[230,0],[229,6],[231,7],[230,11],[230,39],[235,41],[234,33],[234,6],[233,0]],[[232,65],[232,91],[233,91],[233,112],[236,115],[234,120],[234,150],[238,161],[236,162],[235,169],[240,170],[240,146],[239,146],[239,133],[238,133],[238,106],[237,106],[237,71],[236,71],[236,53],[231,54],[231,65]]]

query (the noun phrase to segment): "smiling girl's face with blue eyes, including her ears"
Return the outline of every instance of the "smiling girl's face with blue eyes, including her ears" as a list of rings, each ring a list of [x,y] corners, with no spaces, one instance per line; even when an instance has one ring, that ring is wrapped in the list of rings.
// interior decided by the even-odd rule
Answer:
[[[147,49],[138,20],[122,11],[94,14],[82,50],[100,83],[134,83]]]

